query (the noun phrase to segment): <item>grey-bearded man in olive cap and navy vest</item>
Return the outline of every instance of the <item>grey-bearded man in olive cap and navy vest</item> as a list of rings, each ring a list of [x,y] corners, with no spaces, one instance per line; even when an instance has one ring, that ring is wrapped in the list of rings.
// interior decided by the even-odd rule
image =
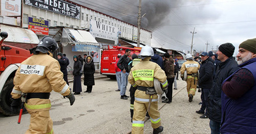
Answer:
[[[239,46],[241,67],[222,84],[221,133],[255,133],[256,131],[256,38]]]

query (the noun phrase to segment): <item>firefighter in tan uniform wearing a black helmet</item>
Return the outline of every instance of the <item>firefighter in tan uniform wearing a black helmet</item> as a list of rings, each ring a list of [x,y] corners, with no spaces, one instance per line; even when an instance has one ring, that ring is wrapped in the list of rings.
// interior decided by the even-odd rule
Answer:
[[[26,133],[54,133],[49,113],[52,90],[68,97],[70,105],[75,101],[68,84],[63,80],[58,61],[52,57],[57,49],[57,42],[45,36],[36,48],[30,49],[33,55],[23,61],[16,71],[11,106],[17,107],[20,98],[27,94],[24,105],[31,117]]]

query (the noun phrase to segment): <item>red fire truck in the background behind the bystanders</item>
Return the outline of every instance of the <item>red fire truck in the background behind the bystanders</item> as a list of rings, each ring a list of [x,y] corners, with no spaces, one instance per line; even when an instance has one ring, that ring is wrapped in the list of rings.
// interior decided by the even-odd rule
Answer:
[[[106,75],[108,78],[115,79],[115,63],[117,55],[124,55],[126,49],[131,50],[131,55],[133,55],[134,53],[138,55],[140,53],[140,49],[120,46],[114,46],[113,48],[110,48],[109,46],[108,49],[103,50],[101,55],[100,74]]]

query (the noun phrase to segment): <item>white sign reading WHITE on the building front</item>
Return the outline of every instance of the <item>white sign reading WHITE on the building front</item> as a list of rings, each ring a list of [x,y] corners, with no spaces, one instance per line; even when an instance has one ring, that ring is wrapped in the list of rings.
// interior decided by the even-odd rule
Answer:
[[[115,44],[118,43],[118,28],[115,26],[107,25],[91,19],[90,33],[96,38],[103,38],[114,40]]]

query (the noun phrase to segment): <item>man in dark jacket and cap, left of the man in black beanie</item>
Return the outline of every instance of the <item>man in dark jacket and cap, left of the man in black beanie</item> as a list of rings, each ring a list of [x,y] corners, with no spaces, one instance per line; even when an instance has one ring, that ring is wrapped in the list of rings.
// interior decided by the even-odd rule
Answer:
[[[214,73],[214,61],[208,56],[207,52],[200,54],[202,59],[202,65],[199,69],[199,80],[198,85],[202,89],[201,100],[202,105],[201,109],[196,111],[197,114],[203,114],[200,118],[208,118],[207,113],[204,113],[205,109],[208,108],[208,95],[210,88],[212,87],[212,75]]]

